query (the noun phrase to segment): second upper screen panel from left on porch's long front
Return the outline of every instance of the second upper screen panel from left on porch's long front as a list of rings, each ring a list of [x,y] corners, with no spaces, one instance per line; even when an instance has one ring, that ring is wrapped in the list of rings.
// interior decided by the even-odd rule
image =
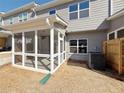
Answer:
[[[35,32],[25,32],[25,53],[35,53]]]

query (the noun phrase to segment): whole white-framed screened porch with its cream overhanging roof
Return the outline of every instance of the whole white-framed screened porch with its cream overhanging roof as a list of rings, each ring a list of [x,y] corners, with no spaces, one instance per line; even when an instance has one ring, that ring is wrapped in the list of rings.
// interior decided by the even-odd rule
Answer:
[[[28,22],[7,26],[6,28],[13,33],[13,66],[42,73],[54,73],[66,59],[66,26],[58,16],[38,17]]]

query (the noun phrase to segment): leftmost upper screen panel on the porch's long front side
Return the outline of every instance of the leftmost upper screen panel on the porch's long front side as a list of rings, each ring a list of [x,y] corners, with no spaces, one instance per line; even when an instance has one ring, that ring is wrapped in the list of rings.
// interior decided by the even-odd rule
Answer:
[[[15,52],[22,52],[22,33],[14,34]]]

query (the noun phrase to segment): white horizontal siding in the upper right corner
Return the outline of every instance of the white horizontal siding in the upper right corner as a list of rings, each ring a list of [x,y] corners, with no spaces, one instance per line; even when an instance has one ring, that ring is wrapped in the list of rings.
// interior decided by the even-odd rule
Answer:
[[[124,0],[113,0],[113,14],[124,9]]]

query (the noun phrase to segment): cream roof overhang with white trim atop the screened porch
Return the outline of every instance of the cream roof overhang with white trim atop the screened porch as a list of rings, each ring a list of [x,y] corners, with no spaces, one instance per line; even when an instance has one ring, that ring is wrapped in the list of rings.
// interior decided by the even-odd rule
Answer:
[[[50,16],[37,16],[35,18],[29,19],[24,22],[19,22],[10,25],[3,25],[0,28],[9,31],[16,31],[16,30],[25,30],[25,29],[33,29],[33,28],[43,28],[43,27],[52,27],[54,23],[59,23],[65,27],[67,27],[67,23],[60,18],[58,15],[50,15]]]

